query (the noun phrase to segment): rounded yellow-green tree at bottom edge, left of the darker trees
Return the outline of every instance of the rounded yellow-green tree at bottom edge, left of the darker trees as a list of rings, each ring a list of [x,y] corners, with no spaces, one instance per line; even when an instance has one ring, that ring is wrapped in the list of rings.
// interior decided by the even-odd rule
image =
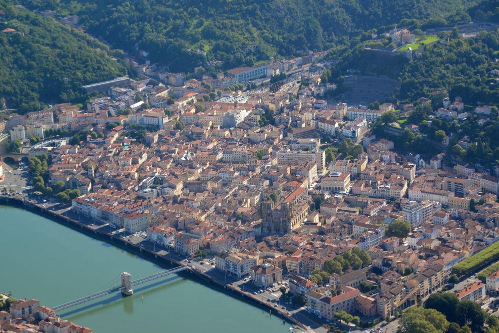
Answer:
[[[397,333],[444,333],[448,327],[449,322],[438,311],[410,308],[402,314]]]

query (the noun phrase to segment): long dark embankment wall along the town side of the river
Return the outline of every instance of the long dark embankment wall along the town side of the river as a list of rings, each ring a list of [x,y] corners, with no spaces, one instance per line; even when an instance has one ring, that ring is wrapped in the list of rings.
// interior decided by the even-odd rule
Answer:
[[[44,209],[43,207],[36,205],[34,203],[28,203],[23,200],[19,200],[17,198],[10,198],[10,197],[0,197],[0,204],[5,204],[11,207],[17,207],[17,208],[22,208],[24,210],[27,210],[31,213],[37,214],[39,216],[48,218],[54,222],[57,222],[58,224],[61,224],[63,226],[69,227],[73,230],[76,230],[78,232],[81,232],[87,236],[90,236],[94,239],[106,242],[108,244],[111,244],[113,246],[116,246],[130,254],[139,256],[143,259],[146,259],[147,261],[154,263],[162,268],[171,268],[175,266],[187,266],[186,263],[180,262],[178,260],[175,260],[173,258],[168,258],[164,256],[160,256],[157,253],[154,253],[153,251],[150,251],[148,249],[144,249],[138,245],[131,245],[127,243],[125,240],[122,238],[119,238],[114,235],[109,235],[108,233],[104,233],[100,230],[94,230],[90,228],[89,226],[79,223],[78,221],[75,221],[71,218],[68,218],[66,216],[62,216],[60,214],[57,214],[56,212],[50,211],[48,209]],[[260,300],[252,297],[251,294],[249,293],[244,293],[230,285],[226,285],[224,282],[219,281],[215,279],[214,277],[211,277],[197,269],[194,269],[192,267],[188,267],[188,270],[179,273],[179,275],[183,278],[201,283],[211,289],[214,289],[216,291],[223,292],[226,295],[229,295],[230,297],[236,298],[238,300],[243,300],[246,303],[249,303],[253,306],[257,306],[258,308],[264,309],[265,311],[270,311],[274,315],[278,315],[282,319],[286,320],[288,323],[294,324],[299,326],[300,328],[307,330],[307,327],[303,325],[302,323],[298,322],[294,318],[288,317],[282,310],[272,308],[268,304],[265,304],[264,302],[261,302]],[[69,301],[69,300],[68,300]]]

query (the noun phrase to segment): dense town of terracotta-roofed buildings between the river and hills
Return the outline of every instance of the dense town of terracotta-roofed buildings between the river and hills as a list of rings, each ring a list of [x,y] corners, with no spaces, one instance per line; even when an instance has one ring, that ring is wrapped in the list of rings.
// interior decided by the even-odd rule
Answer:
[[[229,73],[239,82],[268,70]],[[443,154],[429,165],[397,155],[369,126],[394,105],[331,105],[315,93],[320,72],[300,75],[300,84],[244,94],[182,75],[163,76],[171,86],[105,83],[109,96],[86,110],[59,104],[3,123],[12,138],[27,126],[92,134],[32,153],[50,156],[51,182],[80,191],[72,209],[82,217],[146,232],[186,257],[203,250],[218,270],[257,286],[292,275],[292,293],[322,318],[389,318],[442,290],[453,266],[499,239],[499,179],[471,165],[444,170]],[[206,97],[213,92],[216,100]],[[148,128],[145,137],[134,138],[131,125]],[[351,138],[364,151],[330,160],[321,136]],[[407,238],[386,234],[395,220],[410,223]],[[331,274],[321,286],[308,279],[353,248],[369,254],[370,267]],[[485,287],[459,295],[478,300],[476,290]]]

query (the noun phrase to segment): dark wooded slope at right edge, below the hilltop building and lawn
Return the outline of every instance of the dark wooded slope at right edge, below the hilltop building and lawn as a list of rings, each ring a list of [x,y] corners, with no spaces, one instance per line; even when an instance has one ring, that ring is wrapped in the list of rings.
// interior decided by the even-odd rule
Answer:
[[[480,32],[477,38],[450,36],[449,41],[426,47],[399,76],[400,99],[414,101],[436,90],[449,89],[469,105],[499,104],[499,85],[487,73],[499,69],[499,34]]]

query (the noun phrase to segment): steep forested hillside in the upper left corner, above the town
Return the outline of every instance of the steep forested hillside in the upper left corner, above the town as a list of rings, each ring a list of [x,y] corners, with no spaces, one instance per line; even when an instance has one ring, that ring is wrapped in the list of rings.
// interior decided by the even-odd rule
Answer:
[[[7,107],[33,111],[41,103],[84,101],[81,85],[128,74],[127,63],[110,56],[119,52],[96,39],[7,0],[0,10],[0,31],[15,30],[0,32],[0,98]]]

